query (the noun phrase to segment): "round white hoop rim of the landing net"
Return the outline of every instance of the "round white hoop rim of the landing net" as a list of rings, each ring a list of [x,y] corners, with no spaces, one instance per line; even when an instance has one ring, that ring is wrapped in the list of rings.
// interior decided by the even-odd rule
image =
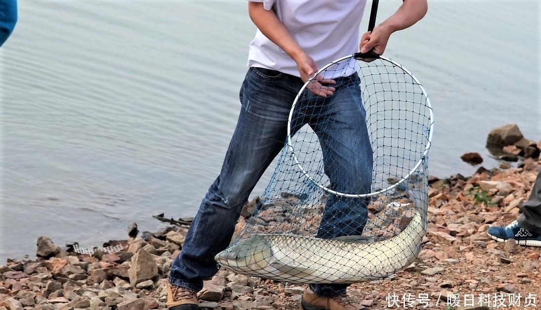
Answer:
[[[332,65],[334,64],[337,64],[341,61],[345,61],[349,58],[353,58],[354,55],[349,55],[349,56],[345,56],[345,57],[341,57],[341,58],[338,58],[337,60],[333,61],[333,62],[330,62],[328,63],[327,65],[325,65],[323,68],[319,69],[318,72],[316,72],[314,74],[314,76],[312,78],[310,78],[310,80],[306,81],[306,83],[304,85],[302,85],[302,88],[299,90],[299,93],[297,94],[297,96],[295,97],[295,100],[293,101],[293,105],[291,107],[291,110],[289,111],[289,117],[288,117],[288,120],[287,120],[287,137],[286,137],[286,144],[287,144],[287,147],[289,149],[289,154],[293,157],[293,160],[296,164],[297,167],[299,167],[301,173],[306,176],[306,178],[312,182],[313,184],[315,184],[315,186],[321,188],[322,190],[324,190],[325,192],[329,193],[329,194],[333,194],[333,195],[337,195],[337,196],[342,196],[342,197],[372,197],[372,196],[377,196],[379,194],[382,194],[382,193],[385,193],[389,190],[392,190],[394,188],[397,188],[400,184],[406,182],[406,180],[412,176],[412,174],[414,174],[418,168],[421,166],[421,164],[425,161],[426,157],[427,157],[427,154],[428,154],[428,150],[430,149],[431,147],[431,144],[432,144],[432,133],[433,133],[433,126],[434,126],[434,116],[433,116],[433,111],[432,111],[432,106],[430,104],[430,98],[428,98],[428,94],[426,93],[425,91],[425,88],[423,87],[423,85],[419,82],[419,80],[417,79],[417,77],[415,77],[409,70],[407,70],[406,68],[403,67],[403,65],[397,63],[397,62],[394,62],[392,61],[390,58],[387,58],[387,57],[383,57],[383,56],[380,56],[379,59],[384,61],[384,62],[388,62],[388,63],[391,63],[394,67],[398,67],[400,69],[402,69],[406,75],[410,76],[413,81],[415,83],[417,83],[417,86],[420,88],[421,90],[421,94],[425,97],[425,104],[428,108],[428,113],[429,113],[429,120],[430,120],[430,125],[429,125],[429,129],[428,129],[428,137],[427,137],[427,142],[426,142],[426,146],[425,146],[425,149],[423,151],[423,153],[419,156],[419,159],[417,160],[416,164],[414,165],[414,167],[412,169],[410,169],[410,171],[405,175],[403,176],[399,181],[391,184],[391,186],[388,186],[386,188],[383,188],[383,189],[379,189],[379,190],[376,190],[372,193],[367,193],[367,194],[346,194],[346,193],[341,193],[341,192],[337,192],[333,189],[330,189],[330,188],[327,188],[324,184],[321,184],[320,182],[316,181],[311,175],[308,174],[308,172],[302,167],[302,164],[301,162],[299,161],[297,155],[295,154],[295,150],[293,149],[293,142],[292,142],[292,138],[291,138],[291,127],[292,127],[292,118],[293,118],[293,114],[294,114],[294,109],[295,109],[295,106],[302,94],[302,92],[306,89],[306,87],[308,86],[308,83],[310,83],[314,78],[315,76],[319,75],[321,72],[325,71],[327,68],[331,67]],[[358,61],[358,62],[361,62],[361,61]]]

